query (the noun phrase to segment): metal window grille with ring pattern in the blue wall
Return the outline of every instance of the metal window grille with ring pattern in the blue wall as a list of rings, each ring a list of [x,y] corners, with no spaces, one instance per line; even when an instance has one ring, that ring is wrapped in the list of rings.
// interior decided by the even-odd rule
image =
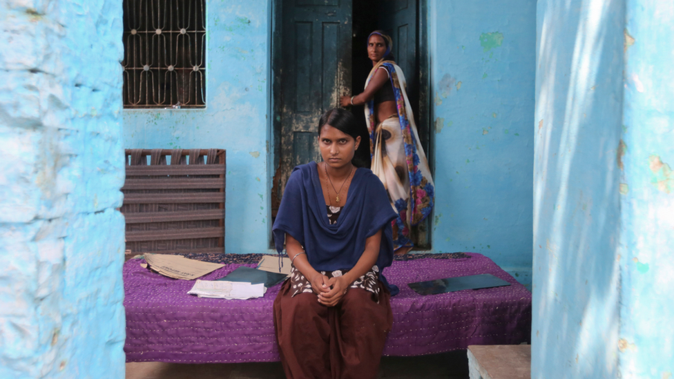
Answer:
[[[204,108],[204,0],[124,0],[123,6],[124,108]]]

